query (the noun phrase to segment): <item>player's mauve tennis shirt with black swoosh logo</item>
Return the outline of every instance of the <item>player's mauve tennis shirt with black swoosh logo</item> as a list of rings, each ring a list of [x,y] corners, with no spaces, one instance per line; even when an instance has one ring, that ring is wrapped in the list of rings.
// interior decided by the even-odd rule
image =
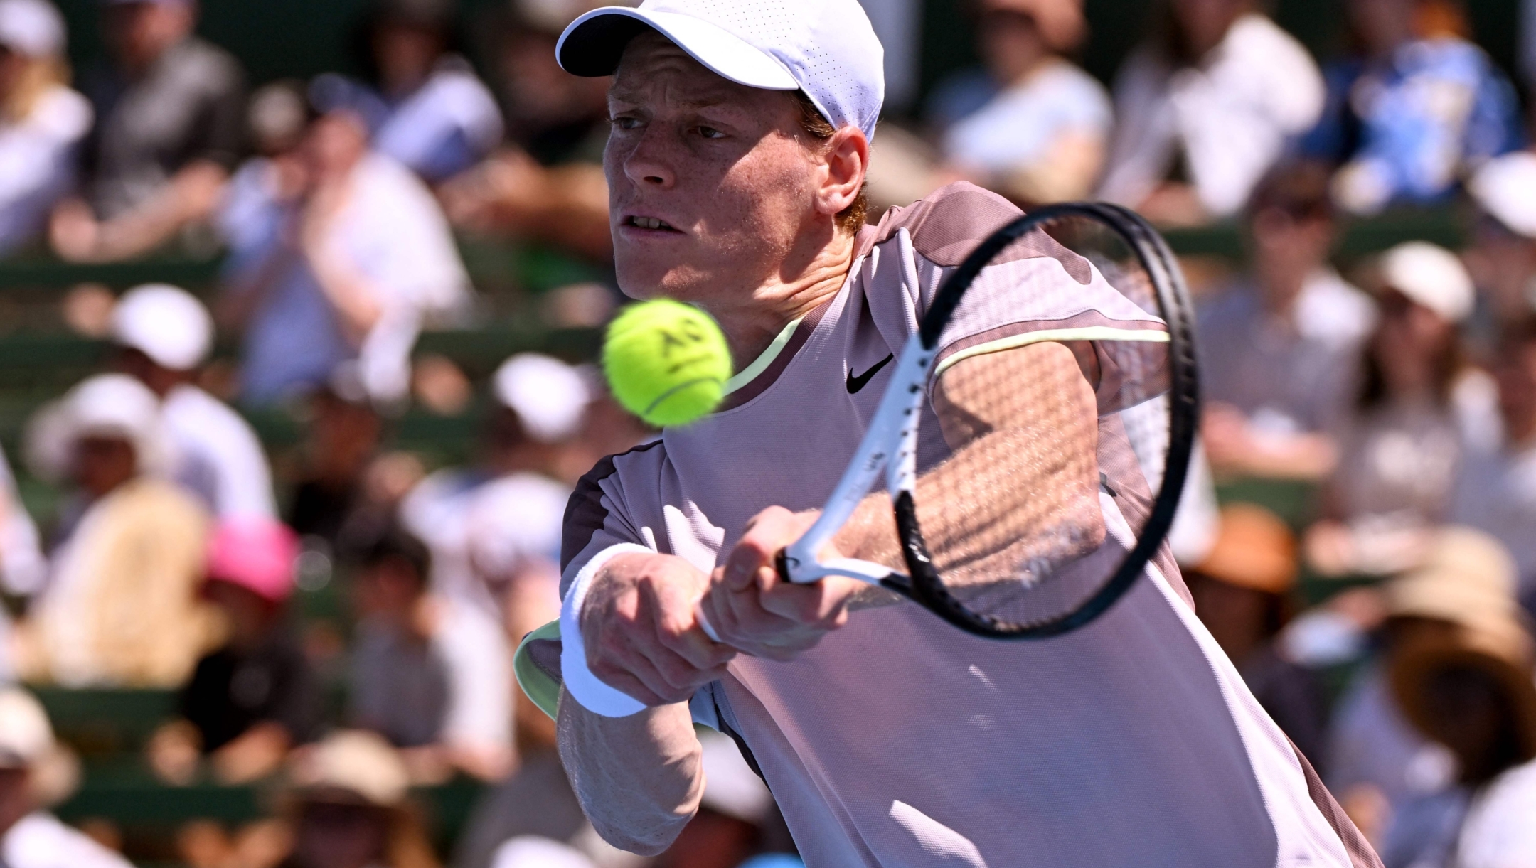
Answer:
[[[842,290],[733,379],[719,412],[582,479],[564,585],[624,542],[711,570],[759,510],[820,507],[889,379],[882,361],[948,270],[1018,214],[955,184],[866,227]],[[1161,324],[1074,253],[1037,247],[972,284],[940,366],[1031,340],[1072,346],[1103,413],[1100,470],[1120,510],[1144,510],[1114,416],[1135,386],[1120,372],[1137,367],[1117,359],[1147,346],[1127,333]],[[922,430],[931,467],[946,455],[931,410]],[[793,662],[737,658],[707,693],[809,868],[1379,866],[1195,618],[1166,552],[1068,636],[995,642],[889,605]]]

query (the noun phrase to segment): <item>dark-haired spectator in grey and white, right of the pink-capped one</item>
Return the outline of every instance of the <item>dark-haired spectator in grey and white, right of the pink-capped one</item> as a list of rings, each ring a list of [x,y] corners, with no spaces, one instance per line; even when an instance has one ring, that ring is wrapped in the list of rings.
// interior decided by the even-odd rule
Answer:
[[[511,651],[499,627],[427,590],[427,548],[401,532],[362,556],[353,581],[352,721],[382,734],[416,780],[458,767],[485,780],[513,765]]]

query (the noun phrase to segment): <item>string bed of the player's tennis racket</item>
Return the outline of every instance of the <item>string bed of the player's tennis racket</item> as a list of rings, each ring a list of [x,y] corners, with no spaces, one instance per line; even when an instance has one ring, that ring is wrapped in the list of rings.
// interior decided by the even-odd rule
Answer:
[[[1101,492],[1112,501],[1117,482],[1101,476],[1100,447],[1126,449],[1126,438],[1101,442],[1100,426],[1117,419],[1118,427],[1121,410],[1164,390],[1169,366],[1166,343],[1157,340],[1160,324],[1149,320],[1158,316],[1155,283],[1129,244],[1087,218],[1051,224],[1048,234],[1058,246],[1026,235],[1018,249],[1000,252],[992,272],[1001,277],[991,280],[1020,286],[988,286],[983,270],[969,290],[977,304],[994,306],[992,313],[1041,292],[1097,292],[1112,303],[1100,304],[1100,316],[1075,323],[1086,330],[974,347],[945,369],[932,387],[932,409],[954,452],[919,479],[914,493],[922,536],[946,590],[974,613],[1015,624],[1075,610],[1124,561],[1124,550],[1104,545],[1107,522],[1126,516],[1103,505]],[[1049,261],[1041,263],[1043,249],[1066,273],[1028,286],[1037,280],[1032,275],[1051,270]],[[965,313],[962,301],[957,318]],[[1106,329],[1104,321],[1121,330]],[[1074,341],[1080,350],[1089,347],[1094,364],[1081,364],[1068,346]],[[1167,403],[1144,404],[1132,422],[1135,461],[1109,464],[1160,467],[1169,449]],[[1140,518],[1144,513],[1129,516],[1132,536]]]

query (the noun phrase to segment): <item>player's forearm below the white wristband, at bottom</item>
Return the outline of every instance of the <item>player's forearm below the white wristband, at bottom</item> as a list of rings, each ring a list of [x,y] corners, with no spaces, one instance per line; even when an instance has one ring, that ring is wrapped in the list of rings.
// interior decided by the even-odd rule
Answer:
[[[601,717],[562,688],[556,736],[571,788],[608,843],[654,856],[699,810],[702,748],[688,704]]]

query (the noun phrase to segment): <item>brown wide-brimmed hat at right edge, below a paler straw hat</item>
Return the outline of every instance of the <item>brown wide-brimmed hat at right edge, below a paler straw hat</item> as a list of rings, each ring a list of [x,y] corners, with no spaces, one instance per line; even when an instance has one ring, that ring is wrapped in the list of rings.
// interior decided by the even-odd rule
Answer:
[[[1398,705],[1425,736],[1448,740],[1442,714],[1430,708],[1430,681],[1450,668],[1475,668],[1499,685],[1514,716],[1521,762],[1536,759],[1536,670],[1531,667],[1531,639],[1524,630],[1461,630],[1452,636],[1425,636],[1402,653],[1393,654],[1387,678]]]

